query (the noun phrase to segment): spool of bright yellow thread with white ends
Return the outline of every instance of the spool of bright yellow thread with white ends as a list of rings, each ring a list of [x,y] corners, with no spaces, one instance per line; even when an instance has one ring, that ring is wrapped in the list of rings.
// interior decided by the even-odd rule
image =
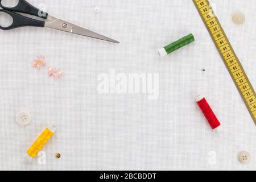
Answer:
[[[30,162],[32,159],[38,154],[38,152],[44,147],[44,145],[48,142],[48,140],[52,137],[55,132],[55,126],[51,125],[51,127],[46,128],[43,133],[35,140],[32,146],[27,150],[25,154],[25,158]]]

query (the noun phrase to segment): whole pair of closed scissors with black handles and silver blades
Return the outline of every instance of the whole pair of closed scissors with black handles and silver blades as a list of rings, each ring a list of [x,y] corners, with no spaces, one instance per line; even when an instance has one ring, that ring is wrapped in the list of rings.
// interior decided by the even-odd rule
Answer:
[[[0,0],[0,7],[2,7],[2,9],[0,10],[0,13],[3,12],[6,14],[9,14],[13,18],[13,23],[10,26],[2,27],[0,25],[0,29],[2,30],[11,30],[13,28],[24,27],[24,26],[49,27],[49,28],[54,28],[56,30],[60,30],[60,31],[70,32],[72,34],[88,36],[90,38],[101,39],[101,40],[105,40],[105,41],[109,41],[117,44],[119,43],[117,40],[107,38],[106,36],[97,34],[96,32],[87,30],[75,24],[68,23],[68,22],[65,22],[64,20],[57,19],[53,16],[50,16],[48,13],[30,5],[30,3],[28,3],[25,0],[19,0],[18,4],[14,7],[5,7],[2,5],[2,0]],[[35,15],[45,19],[45,21],[28,18],[26,16],[17,14],[15,12]]]

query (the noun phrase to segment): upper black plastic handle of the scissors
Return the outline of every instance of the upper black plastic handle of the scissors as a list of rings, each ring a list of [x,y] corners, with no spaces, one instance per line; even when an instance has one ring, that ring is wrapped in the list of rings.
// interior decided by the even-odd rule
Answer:
[[[17,11],[20,13],[27,13],[30,15],[35,15],[38,16],[40,18],[44,18],[47,19],[48,14],[37,9],[36,7],[30,5],[30,3],[28,3],[25,0],[19,0],[18,5],[14,6],[14,7],[5,7],[2,5],[2,0],[0,0],[0,7],[2,7],[2,9],[5,10],[9,10],[9,11]]]

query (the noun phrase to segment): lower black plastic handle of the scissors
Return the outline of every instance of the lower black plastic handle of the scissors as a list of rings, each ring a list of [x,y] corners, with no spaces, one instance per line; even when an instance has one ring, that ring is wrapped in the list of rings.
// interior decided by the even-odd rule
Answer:
[[[25,27],[25,26],[44,27],[44,24],[46,23],[41,20],[31,19],[26,16],[16,14],[13,11],[0,10],[0,13],[1,12],[9,14],[11,18],[13,18],[13,23],[10,26],[2,27],[0,25],[0,29],[2,30],[11,30],[13,28]]]

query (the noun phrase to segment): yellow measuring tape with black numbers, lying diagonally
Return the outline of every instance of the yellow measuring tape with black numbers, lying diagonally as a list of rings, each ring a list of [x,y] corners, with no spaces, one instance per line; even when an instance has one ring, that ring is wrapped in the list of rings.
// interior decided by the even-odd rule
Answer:
[[[208,0],[193,0],[256,125],[256,94]]]

